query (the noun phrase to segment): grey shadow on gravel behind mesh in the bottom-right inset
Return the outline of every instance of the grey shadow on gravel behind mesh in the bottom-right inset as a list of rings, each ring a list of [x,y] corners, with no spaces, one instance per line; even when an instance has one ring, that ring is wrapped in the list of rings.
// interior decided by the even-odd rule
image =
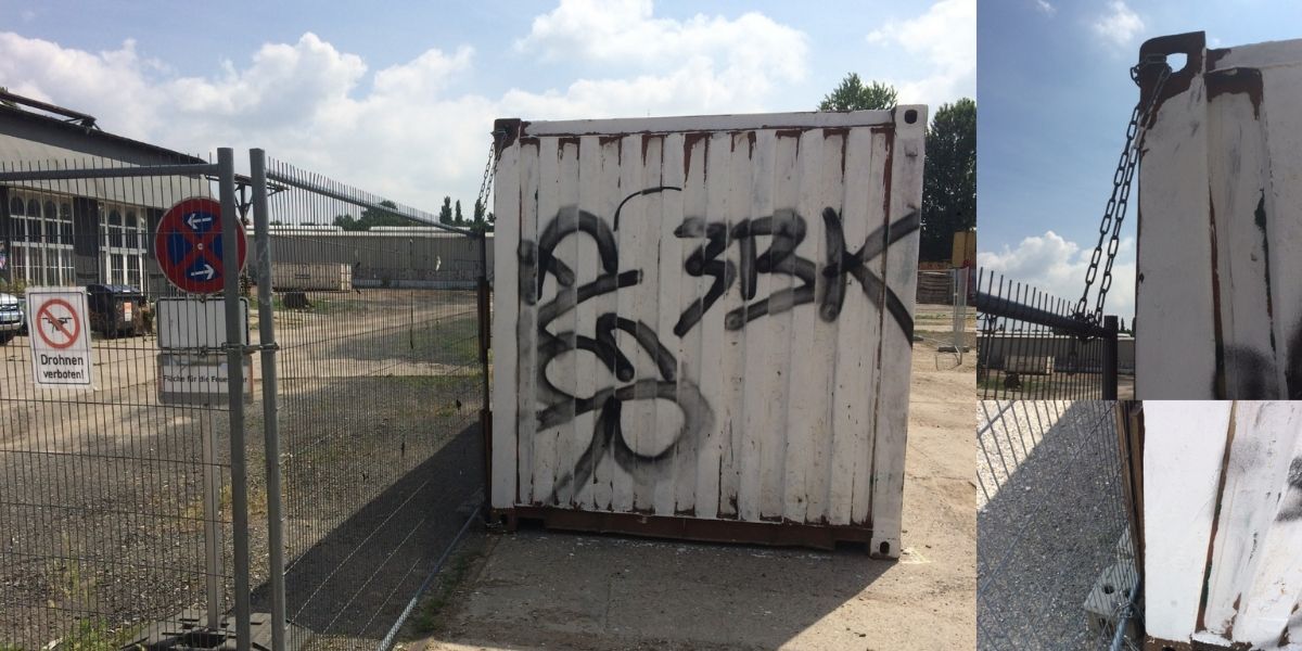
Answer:
[[[1023,439],[1025,456],[1017,430],[1001,436],[1017,465],[976,516],[978,648],[1107,648],[1083,604],[1125,516],[1111,408],[1098,405],[1069,406],[1036,444]]]

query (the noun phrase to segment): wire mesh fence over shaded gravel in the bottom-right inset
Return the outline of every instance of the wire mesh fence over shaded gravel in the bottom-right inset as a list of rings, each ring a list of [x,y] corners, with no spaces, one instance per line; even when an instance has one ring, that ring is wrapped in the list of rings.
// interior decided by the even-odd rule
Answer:
[[[1109,401],[976,408],[982,650],[1139,648],[1128,437]]]

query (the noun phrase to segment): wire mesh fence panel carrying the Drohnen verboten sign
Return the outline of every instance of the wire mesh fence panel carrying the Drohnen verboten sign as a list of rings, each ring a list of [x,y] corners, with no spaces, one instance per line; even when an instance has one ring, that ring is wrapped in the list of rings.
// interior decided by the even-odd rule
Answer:
[[[154,310],[180,294],[154,232],[219,165],[141,163],[0,164],[0,648],[116,648],[230,605],[228,405],[160,398]]]

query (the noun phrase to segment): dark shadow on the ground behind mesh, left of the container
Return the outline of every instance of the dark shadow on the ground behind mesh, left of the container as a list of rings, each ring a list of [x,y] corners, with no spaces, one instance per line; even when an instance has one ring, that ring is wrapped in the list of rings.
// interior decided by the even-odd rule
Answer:
[[[483,486],[482,461],[479,426],[471,424],[302,556],[286,559],[289,620],[318,642],[381,639],[469,517],[464,506]],[[268,585],[254,590],[253,609],[271,611]]]

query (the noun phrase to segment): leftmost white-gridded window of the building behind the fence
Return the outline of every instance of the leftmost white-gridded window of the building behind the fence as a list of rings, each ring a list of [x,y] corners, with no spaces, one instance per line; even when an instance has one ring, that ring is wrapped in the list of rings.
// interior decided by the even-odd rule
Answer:
[[[10,191],[13,277],[33,285],[74,284],[72,204],[57,203],[53,195]]]

